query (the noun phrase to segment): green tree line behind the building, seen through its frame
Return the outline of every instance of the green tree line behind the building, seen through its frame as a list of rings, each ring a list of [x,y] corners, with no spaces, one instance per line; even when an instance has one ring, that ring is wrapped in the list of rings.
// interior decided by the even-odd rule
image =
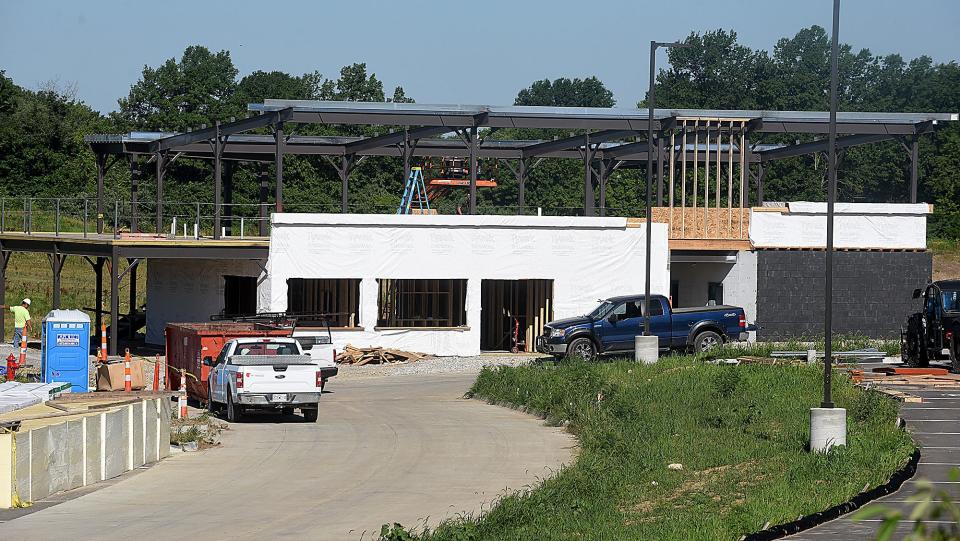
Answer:
[[[771,51],[752,49],[728,30],[691,33],[688,48],[671,49],[669,65],[656,78],[658,107],[699,109],[826,110],[829,106],[830,43],[823,28],[812,26],[779,40]],[[926,56],[874,55],[867,49],[841,47],[840,109],[843,111],[960,110],[960,66],[935,63]],[[83,142],[91,133],[184,131],[229,121],[247,114],[248,103],[264,99],[412,102],[402,86],[392,94],[367,66],[345,66],[336,78],[318,72],[288,74],[255,71],[243,77],[229,51],[188,47],[179,59],[144,66],[139,80],[118,100],[115,112],[101,114],[78,100],[70,87],[44,85],[30,90],[0,71],[0,194],[8,197],[84,197],[95,193],[94,156]],[[516,105],[612,107],[613,94],[596,77],[543,79],[521,89]],[[643,107],[644,103],[636,104]],[[298,125],[300,135],[374,135],[383,127]],[[569,136],[560,130],[500,130],[500,139],[552,139]],[[797,135],[765,134],[759,142],[792,144]],[[758,139],[754,139],[758,142]],[[436,162],[428,164],[435,166]],[[258,200],[260,166],[231,169],[232,199]],[[272,173],[272,166],[267,166]],[[577,213],[583,205],[582,163],[545,160],[530,172],[526,200],[548,212]],[[209,162],[177,160],[167,173],[167,200],[211,201]],[[920,143],[920,200],[934,203],[930,220],[934,236],[960,238],[960,126],[950,123]],[[139,197],[150,201],[152,169],[145,168]],[[399,158],[371,158],[351,175],[355,212],[389,212],[402,192]],[[513,212],[517,186],[512,171],[493,161],[481,164],[482,177],[499,186],[478,194],[486,212]],[[909,159],[897,141],[855,147],[843,153],[839,168],[843,201],[903,202],[909,197]],[[111,198],[129,197],[126,166],[110,170]],[[340,182],[333,166],[321,157],[290,156],[284,164],[285,204],[297,211],[337,211]],[[641,169],[621,169],[607,191],[610,214],[643,213]],[[767,200],[823,200],[826,160],[823,156],[790,158],[771,164],[765,175]],[[438,202],[441,212],[454,212],[465,198],[453,193]]]

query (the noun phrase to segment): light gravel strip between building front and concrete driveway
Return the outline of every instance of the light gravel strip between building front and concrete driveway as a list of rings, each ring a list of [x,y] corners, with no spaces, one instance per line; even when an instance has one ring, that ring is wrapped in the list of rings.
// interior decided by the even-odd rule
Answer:
[[[341,364],[340,373],[333,379],[333,382],[344,379],[417,374],[478,373],[484,366],[519,366],[543,358],[549,359],[550,357],[523,354],[483,354],[475,357],[433,357],[404,364],[367,364],[363,366]]]

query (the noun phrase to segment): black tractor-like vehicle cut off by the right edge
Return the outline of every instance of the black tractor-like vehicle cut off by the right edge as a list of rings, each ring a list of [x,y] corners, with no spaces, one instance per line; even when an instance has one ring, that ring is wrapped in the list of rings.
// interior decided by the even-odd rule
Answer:
[[[900,356],[907,366],[949,360],[960,372],[960,280],[940,280],[913,291],[922,310],[900,329]]]

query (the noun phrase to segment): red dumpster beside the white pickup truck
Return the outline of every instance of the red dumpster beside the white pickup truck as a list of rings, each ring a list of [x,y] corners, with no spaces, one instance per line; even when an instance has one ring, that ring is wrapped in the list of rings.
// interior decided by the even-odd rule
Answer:
[[[292,329],[277,329],[259,323],[170,323],[165,334],[167,342],[168,389],[180,390],[180,373],[171,368],[186,370],[187,394],[198,400],[207,399],[209,366],[203,366],[204,357],[217,358],[223,345],[234,338],[290,336]]]

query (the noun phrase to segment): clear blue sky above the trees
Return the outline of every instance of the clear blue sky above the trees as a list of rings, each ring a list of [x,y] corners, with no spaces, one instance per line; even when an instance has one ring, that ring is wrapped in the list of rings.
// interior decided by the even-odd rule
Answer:
[[[0,69],[18,84],[75,84],[100,111],[117,107],[143,66],[202,44],[255,70],[336,78],[366,62],[389,95],[420,103],[511,104],[542,78],[596,75],[624,106],[647,85],[651,39],[734,29],[771,49],[800,28],[830,28],[831,0],[0,1]],[[958,0],[844,0],[841,41],[874,53],[960,57]],[[660,61],[665,63],[665,57]]]

